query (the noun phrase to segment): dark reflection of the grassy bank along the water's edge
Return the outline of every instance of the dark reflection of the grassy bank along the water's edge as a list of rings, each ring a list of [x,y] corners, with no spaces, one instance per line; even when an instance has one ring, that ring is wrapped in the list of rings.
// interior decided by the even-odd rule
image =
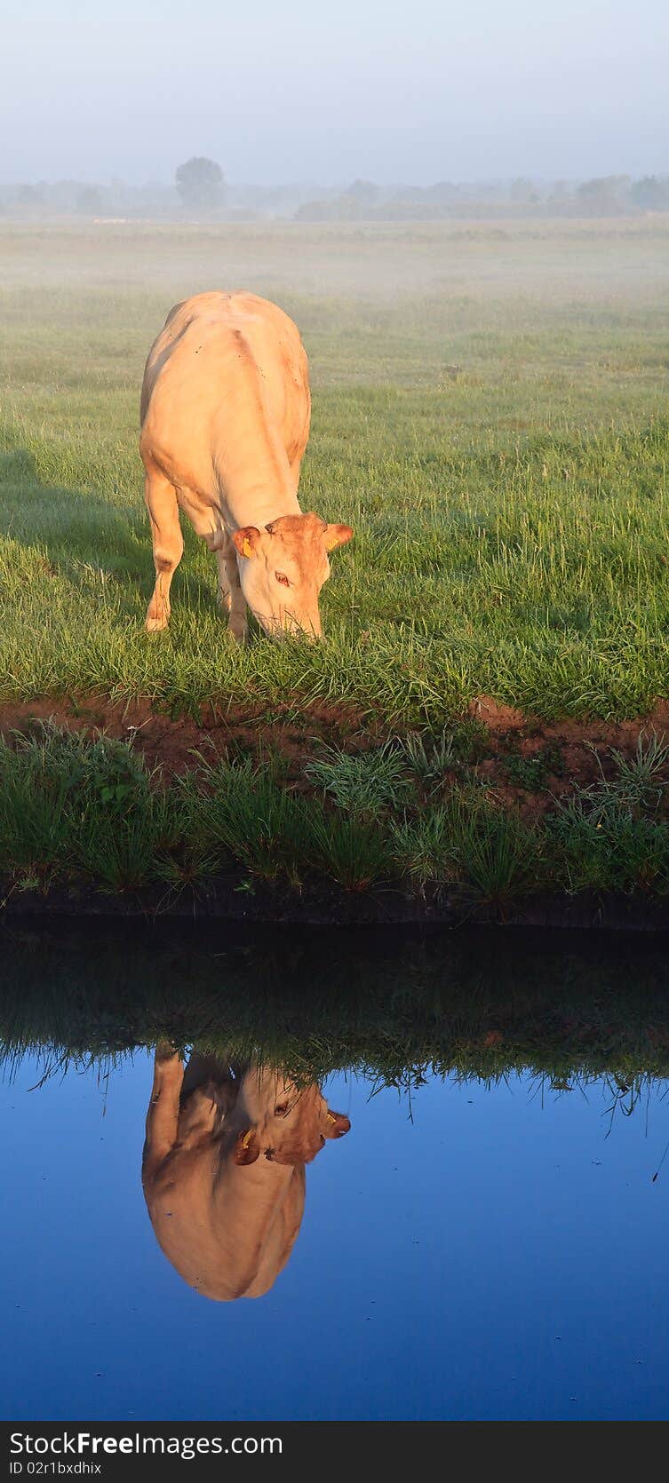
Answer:
[[[380,931],[258,927],[12,931],[0,1037],[10,1063],[39,1050],[105,1060],[168,1040],[303,1078],[355,1068],[406,1086],[430,1069],[530,1069],[559,1090],[669,1075],[669,970],[638,939],[478,930],[406,940]],[[624,1094],[623,1091],[620,1093]]]

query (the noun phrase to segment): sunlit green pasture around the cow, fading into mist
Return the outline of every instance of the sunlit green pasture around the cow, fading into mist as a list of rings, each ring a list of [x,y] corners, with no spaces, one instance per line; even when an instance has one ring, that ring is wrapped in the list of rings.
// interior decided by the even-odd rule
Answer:
[[[288,694],[436,730],[669,693],[669,221],[0,227],[0,698]],[[355,526],[326,642],[234,648],[194,537],[153,584],[138,392],[172,303],[248,286],[298,322],[303,509]]]

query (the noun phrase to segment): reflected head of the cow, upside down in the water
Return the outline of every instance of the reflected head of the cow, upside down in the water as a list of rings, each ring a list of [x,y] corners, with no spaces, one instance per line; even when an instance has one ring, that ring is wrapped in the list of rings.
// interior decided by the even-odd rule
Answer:
[[[310,1164],[328,1137],[343,1137],[349,1129],[346,1114],[332,1112],[316,1084],[298,1090],[283,1080],[264,1115],[237,1136],[234,1163],[254,1164],[264,1155],[274,1164]]]

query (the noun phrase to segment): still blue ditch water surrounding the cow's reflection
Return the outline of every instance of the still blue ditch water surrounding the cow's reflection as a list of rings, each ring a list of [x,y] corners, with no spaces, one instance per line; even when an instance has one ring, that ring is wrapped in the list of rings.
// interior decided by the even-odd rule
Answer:
[[[495,960],[498,968],[500,949],[509,955],[509,982],[522,991],[527,1023],[534,1013],[541,1035],[546,1020],[528,986],[528,958],[518,957],[510,940],[492,946],[487,962],[470,964],[484,1005],[481,1056],[495,1057],[494,1072],[482,1075],[479,1065],[476,1075],[472,1041],[448,1068],[448,1054],[457,1059],[448,1013],[433,1047],[442,1057],[435,1057],[436,1071],[412,1062],[406,1075],[395,1077],[399,1086],[384,1086],[378,1047],[375,1062],[360,1066],[355,1057],[357,1071],[346,1069],[340,1057],[322,1089],[329,1106],[350,1120],[350,1132],[326,1140],[307,1164],[304,1213],[286,1265],[264,1296],[218,1302],[179,1275],[147,1213],[141,1173],[154,1056],[128,1023],[134,971],[145,970],[144,948],[105,943],[104,954],[93,955],[88,942],[73,957],[68,940],[45,948],[30,936],[10,949],[4,1040],[13,1059],[0,1087],[6,1212],[0,1286],[10,1335],[0,1378],[4,1419],[668,1416],[669,1157],[665,1164],[662,1158],[669,1099],[653,1048],[668,1037],[662,954],[635,958],[638,992],[633,1005],[622,1004],[620,1023],[611,1001],[617,992],[620,1004],[629,980],[620,946],[598,962],[592,951],[580,957],[580,949],[567,960],[559,946],[550,962],[541,955],[547,979],[562,973],[570,982],[568,1023],[576,1001],[583,1017],[579,1032],[571,1028],[559,1040],[553,1005],[543,1029],[546,1057],[559,1060],[553,1071],[518,1066],[522,1025],[503,998],[497,1005],[509,1041],[506,1065],[500,1032],[485,1028],[485,973]],[[200,968],[206,957],[200,954]],[[406,971],[409,958],[415,968],[412,948],[395,949],[393,958],[398,971],[402,958]],[[182,961],[177,971],[174,954],[169,960],[179,1003]],[[576,985],[574,964],[580,965]],[[220,954],[215,967],[220,974]],[[444,1007],[452,967],[448,952],[435,949],[420,970],[429,980],[432,1038],[442,1022],[435,982],[442,985]],[[243,971],[252,1020],[257,962]],[[607,995],[602,973],[608,973]],[[175,1011],[166,960],[160,980],[169,1023]],[[390,994],[386,970],[383,980]],[[80,1007],[86,998],[83,1040],[71,1004],[58,1019],[62,985],[68,992],[74,985]],[[374,992],[369,985],[371,1013]],[[147,1000],[145,977],[135,994]],[[446,1010],[452,1000],[451,983]],[[218,1017],[228,1016],[230,1040],[237,1001],[233,997],[231,1008],[228,995],[217,1003]],[[608,1019],[598,1029],[599,1050],[590,1048],[589,1059],[581,1051],[576,1065],[579,1035],[583,1043],[583,1025],[592,1031],[602,1003]],[[199,1026],[202,1005],[200,998]],[[301,1025],[294,1031],[294,1053],[297,1046],[307,1060],[319,1013],[313,1003],[306,1005],[312,1040]],[[349,1040],[353,1029],[365,1031],[359,1001],[343,1003],[338,1013]],[[426,1005],[415,1013],[424,1017]],[[211,1031],[211,1005],[208,1014]],[[266,1065],[273,1065],[267,1000],[257,1017]],[[86,1020],[83,1010],[79,1019]],[[107,1043],[114,1043],[107,1051],[99,1046],[102,1022]],[[632,1041],[620,1029],[632,1023],[633,1075]],[[457,1025],[461,1041],[460,1017]],[[401,1029],[405,1034],[403,1004]],[[601,1048],[601,1029],[608,1051]],[[131,1044],[119,1048],[119,1041]],[[645,1043],[647,1066],[639,1050]],[[573,1063],[565,1068],[567,1046]],[[611,1065],[598,1072],[596,1056],[611,1056],[611,1046],[617,1074]],[[467,1057],[470,1065],[463,1063]],[[45,1065],[52,1074],[42,1080]],[[251,1167],[261,1178],[276,1173],[263,1154]],[[240,1172],[246,1176],[251,1169]]]

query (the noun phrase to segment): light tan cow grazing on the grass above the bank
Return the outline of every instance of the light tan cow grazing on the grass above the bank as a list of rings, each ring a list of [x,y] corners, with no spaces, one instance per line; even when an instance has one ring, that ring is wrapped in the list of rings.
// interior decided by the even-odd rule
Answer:
[[[141,394],[156,565],[148,632],[169,618],[181,509],[215,552],[236,639],[246,636],[246,604],[266,633],[320,636],[328,552],[353,531],[300,510],[310,406],[300,332],[276,304],[255,294],[196,294],[168,314]]]

